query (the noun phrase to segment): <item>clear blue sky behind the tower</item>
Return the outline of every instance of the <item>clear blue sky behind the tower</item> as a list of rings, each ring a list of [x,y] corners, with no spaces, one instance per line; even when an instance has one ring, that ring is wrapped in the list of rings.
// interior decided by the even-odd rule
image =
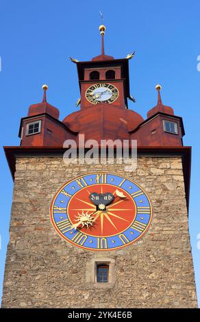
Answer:
[[[68,56],[90,60],[100,53],[101,10],[107,27],[105,53],[125,58],[136,51],[129,74],[137,103],[129,108],[146,118],[160,83],[164,104],[184,119],[184,145],[192,146],[189,226],[200,304],[199,0],[1,0],[0,5],[0,296],[13,188],[2,146],[19,144],[20,119],[30,104],[41,101],[42,84],[49,85],[48,101],[60,109],[61,120],[76,110],[77,71]]]

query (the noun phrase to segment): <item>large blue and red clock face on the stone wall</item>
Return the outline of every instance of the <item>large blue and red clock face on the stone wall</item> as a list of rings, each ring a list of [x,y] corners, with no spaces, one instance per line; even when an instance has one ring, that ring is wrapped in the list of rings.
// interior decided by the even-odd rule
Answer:
[[[112,250],[142,237],[151,222],[151,203],[131,179],[89,173],[67,182],[51,203],[51,223],[78,247]]]

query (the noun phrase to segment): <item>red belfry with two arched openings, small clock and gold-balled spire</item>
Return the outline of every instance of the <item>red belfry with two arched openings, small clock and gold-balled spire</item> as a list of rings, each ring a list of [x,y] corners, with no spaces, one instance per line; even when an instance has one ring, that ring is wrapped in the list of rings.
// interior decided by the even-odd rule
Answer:
[[[129,97],[129,67],[127,59],[114,59],[104,52],[105,26],[100,25],[101,55],[89,62],[77,62],[81,108],[112,104],[127,108]]]

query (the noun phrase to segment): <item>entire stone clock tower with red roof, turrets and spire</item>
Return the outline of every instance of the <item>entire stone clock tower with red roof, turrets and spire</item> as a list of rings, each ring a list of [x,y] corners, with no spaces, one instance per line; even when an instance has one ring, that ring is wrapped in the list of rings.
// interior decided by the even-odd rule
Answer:
[[[196,308],[182,117],[160,85],[147,119],[128,108],[134,53],[105,55],[99,30],[101,55],[71,58],[80,109],[60,121],[44,85],[20,146],[4,147],[14,194],[2,307]],[[127,167],[133,142],[137,164]]]

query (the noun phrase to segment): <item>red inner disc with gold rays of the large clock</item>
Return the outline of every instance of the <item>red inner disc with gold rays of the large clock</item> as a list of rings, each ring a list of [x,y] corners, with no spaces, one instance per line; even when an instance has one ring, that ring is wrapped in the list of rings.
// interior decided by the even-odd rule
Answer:
[[[82,214],[92,213],[92,225],[82,227],[84,234],[107,237],[123,232],[135,219],[136,205],[125,190],[120,190],[125,196],[123,199],[116,195],[116,186],[110,184],[92,185],[79,190],[68,203],[67,212],[70,221],[76,223]],[[97,198],[102,197],[102,203],[100,200],[98,207],[89,199],[94,192]],[[113,195],[114,199],[110,205],[101,210],[105,205],[103,197],[108,193]]]

